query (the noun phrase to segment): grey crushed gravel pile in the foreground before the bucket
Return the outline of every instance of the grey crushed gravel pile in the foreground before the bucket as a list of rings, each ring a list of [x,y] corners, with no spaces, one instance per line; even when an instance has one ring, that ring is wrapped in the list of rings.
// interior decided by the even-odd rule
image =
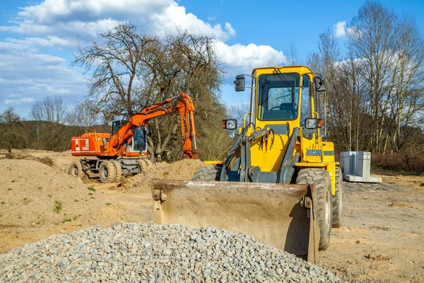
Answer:
[[[241,233],[118,224],[0,255],[0,282],[341,282],[330,271]]]

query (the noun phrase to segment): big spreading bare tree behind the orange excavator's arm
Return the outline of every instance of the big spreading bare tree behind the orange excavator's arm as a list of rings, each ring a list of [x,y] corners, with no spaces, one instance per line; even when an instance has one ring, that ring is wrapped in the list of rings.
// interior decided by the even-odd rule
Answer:
[[[212,38],[184,31],[163,37],[139,35],[131,24],[117,25],[100,38],[101,44],[80,49],[73,62],[91,74],[88,98],[97,102],[94,112],[112,120],[184,91],[195,101],[196,122],[211,125],[213,117],[213,127],[218,129],[225,115],[219,102],[223,71]],[[154,120],[148,127],[153,132],[148,139],[152,161],[160,160],[165,151],[173,154],[179,142],[177,117]],[[199,144],[206,143],[202,127],[197,128]]]

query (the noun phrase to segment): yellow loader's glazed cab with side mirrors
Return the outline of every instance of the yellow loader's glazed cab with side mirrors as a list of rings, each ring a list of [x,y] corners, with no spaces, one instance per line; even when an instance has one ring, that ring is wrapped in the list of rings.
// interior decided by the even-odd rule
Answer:
[[[252,78],[252,86],[245,85],[245,76]],[[237,76],[234,83],[235,91],[252,90],[250,120],[245,124],[261,128],[272,125],[282,134],[285,132],[282,125],[287,125],[288,132],[295,127],[306,127],[307,119],[318,119],[317,96],[326,91],[322,76],[304,66],[257,68],[252,75]],[[314,124],[309,122],[308,125]]]

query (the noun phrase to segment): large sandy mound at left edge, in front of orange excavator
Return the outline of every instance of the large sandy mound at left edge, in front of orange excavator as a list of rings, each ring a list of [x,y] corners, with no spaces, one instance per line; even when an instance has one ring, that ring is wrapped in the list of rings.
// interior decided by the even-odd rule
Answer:
[[[0,160],[0,226],[90,223],[104,200],[88,185],[39,161]]]

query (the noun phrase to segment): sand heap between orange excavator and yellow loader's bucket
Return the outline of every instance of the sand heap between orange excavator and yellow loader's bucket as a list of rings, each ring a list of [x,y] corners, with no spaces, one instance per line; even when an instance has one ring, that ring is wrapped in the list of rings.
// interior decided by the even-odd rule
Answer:
[[[203,161],[183,159],[174,163],[146,164],[145,173],[127,178],[122,184],[131,192],[150,191],[150,184],[154,179],[162,180],[192,180],[197,169],[206,166]]]

